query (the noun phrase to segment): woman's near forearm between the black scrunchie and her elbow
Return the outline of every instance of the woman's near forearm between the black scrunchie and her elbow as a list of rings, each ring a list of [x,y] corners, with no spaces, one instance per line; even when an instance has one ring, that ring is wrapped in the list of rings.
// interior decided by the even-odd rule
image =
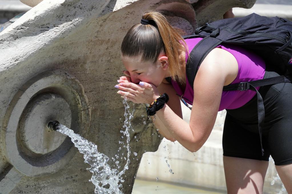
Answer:
[[[156,119],[164,125],[172,137],[189,151],[197,151],[204,144],[204,142],[196,138],[196,134],[193,134],[190,125],[176,115],[167,104],[156,112]]]

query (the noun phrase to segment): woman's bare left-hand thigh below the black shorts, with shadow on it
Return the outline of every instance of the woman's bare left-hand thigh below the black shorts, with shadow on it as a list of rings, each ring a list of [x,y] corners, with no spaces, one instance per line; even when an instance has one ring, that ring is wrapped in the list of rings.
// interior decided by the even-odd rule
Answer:
[[[269,162],[223,156],[228,194],[263,193],[263,184]]]

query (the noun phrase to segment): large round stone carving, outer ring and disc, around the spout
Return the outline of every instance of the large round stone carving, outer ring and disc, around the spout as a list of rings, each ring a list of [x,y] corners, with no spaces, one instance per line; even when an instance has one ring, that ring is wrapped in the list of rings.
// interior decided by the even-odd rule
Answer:
[[[90,123],[90,109],[81,84],[61,70],[45,71],[29,80],[6,111],[5,155],[21,173],[47,176],[75,155],[77,148],[71,139],[48,128],[48,122],[53,120],[82,136]]]

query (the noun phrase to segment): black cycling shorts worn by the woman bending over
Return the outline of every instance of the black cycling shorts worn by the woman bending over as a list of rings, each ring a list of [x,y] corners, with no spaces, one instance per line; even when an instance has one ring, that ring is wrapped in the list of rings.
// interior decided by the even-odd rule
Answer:
[[[279,76],[266,71],[264,78]],[[238,109],[226,110],[223,155],[269,161],[275,165],[292,163],[292,83],[262,86],[265,107],[262,156],[258,130],[257,95]]]

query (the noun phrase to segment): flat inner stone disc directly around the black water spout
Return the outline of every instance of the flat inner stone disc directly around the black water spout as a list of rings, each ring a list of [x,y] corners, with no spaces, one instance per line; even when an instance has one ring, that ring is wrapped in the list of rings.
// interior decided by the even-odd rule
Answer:
[[[31,99],[22,112],[18,125],[22,145],[33,153],[43,155],[57,149],[67,136],[46,127],[48,120],[53,117],[70,127],[72,117],[70,106],[62,96],[42,93]]]

